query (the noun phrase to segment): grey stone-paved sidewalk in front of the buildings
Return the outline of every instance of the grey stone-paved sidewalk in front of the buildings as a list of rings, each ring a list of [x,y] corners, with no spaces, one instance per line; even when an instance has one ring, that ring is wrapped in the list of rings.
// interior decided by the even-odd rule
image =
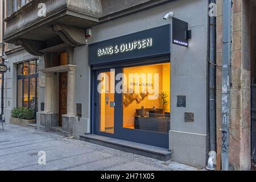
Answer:
[[[38,164],[38,152],[46,152],[46,165]],[[0,128],[0,170],[197,170],[176,162],[134,155],[80,140],[64,138],[24,127]]]

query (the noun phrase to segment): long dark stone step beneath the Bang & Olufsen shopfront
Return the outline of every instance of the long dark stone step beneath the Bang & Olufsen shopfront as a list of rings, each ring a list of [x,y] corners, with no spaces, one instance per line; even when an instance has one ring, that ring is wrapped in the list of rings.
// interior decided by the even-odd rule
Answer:
[[[80,135],[80,140],[84,142],[99,144],[101,146],[114,148],[129,152],[132,154],[146,156],[148,158],[158,159],[162,161],[171,160],[171,152],[167,148],[150,146],[147,144],[129,142],[126,140],[103,137],[100,135]]]

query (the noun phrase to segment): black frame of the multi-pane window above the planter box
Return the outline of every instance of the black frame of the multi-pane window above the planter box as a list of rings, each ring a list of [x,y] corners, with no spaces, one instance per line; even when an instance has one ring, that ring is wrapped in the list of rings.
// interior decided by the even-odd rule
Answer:
[[[30,62],[31,61],[35,61],[36,64],[35,64],[35,74],[32,74],[32,75],[23,75],[23,71],[24,71],[24,63],[28,63],[28,73],[30,73]],[[22,75],[18,75],[19,73],[19,65],[22,65]],[[39,78],[39,70],[38,70],[38,67],[39,67],[39,64],[38,64],[38,59],[31,59],[31,60],[27,60],[27,61],[24,61],[22,63],[18,63],[17,64],[17,93],[16,93],[16,107],[18,107],[18,92],[19,92],[19,87],[18,87],[18,83],[19,83],[19,80],[22,80],[22,107],[25,107],[24,106],[24,80],[28,79],[28,105],[27,107],[28,108],[31,108],[30,106],[30,81],[31,81],[31,78],[35,78],[35,108],[32,108],[34,109],[35,111],[35,114],[36,112],[38,112],[38,78]],[[36,117],[35,117],[36,118]]]

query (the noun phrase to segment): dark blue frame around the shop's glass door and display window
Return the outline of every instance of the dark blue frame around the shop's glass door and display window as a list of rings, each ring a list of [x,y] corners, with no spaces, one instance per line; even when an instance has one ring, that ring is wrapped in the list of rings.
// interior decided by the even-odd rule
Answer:
[[[115,107],[114,113],[114,134],[101,132],[100,129],[100,95],[97,92],[98,84],[100,81],[97,80],[98,74],[101,72],[108,72],[111,68],[115,69],[115,76],[119,73],[123,73],[123,68],[129,67],[139,67],[144,65],[153,65],[153,64],[162,64],[162,63],[171,63],[170,55],[160,55],[158,57],[154,57],[151,59],[139,59],[136,61],[126,61],[119,62],[117,64],[106,64],[106,65],[94,65],[92,66],[91,73],[91,84],[92,84],[92,118],[90,122],[92,123],[92,133],[96,135],[101,135],[104,137],[117,138],[122,140],[128,140],[131,142],[148,144],[151,146],[168,148],[169,147],[169,134],[160,133],[155,131],[147,131],[147,130],[138,130],[138,129],[129,129],[123,127],[123,96],[122,93],[115,93],[115,105],[119,107]],[[171,72],[170,72],[171,75]],[[170,90],[171,92],[171,90]],[[170,98],[171,99],[171,93]],[[171,103],[171,102],[170,102]],[[171,105],[170,105],[171,110]],[[171,118],[170,118],[171,119]],[[171,122],[171,120],[170,120]],[[170,123],[171,125],[171,123]],[[151,138],[148,140],[147,138]]]

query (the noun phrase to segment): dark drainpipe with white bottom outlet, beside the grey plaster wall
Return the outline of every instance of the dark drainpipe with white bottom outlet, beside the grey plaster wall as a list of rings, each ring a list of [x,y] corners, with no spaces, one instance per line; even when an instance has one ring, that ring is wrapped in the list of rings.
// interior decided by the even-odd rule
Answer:
[[[209,5],[216,0],[210,0]],[[209,135],[210,152],[207,169],[216,164],[216,16],[209,16]]]

